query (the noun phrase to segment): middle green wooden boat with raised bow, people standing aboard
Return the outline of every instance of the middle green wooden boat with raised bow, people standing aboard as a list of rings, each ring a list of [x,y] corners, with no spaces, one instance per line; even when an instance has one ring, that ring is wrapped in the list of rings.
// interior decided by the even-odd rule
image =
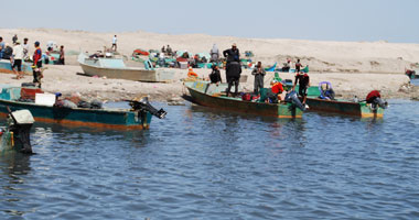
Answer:
[[[223,96],[222,92],[227,88],[227,84],[216,86],[210,81],[185,81],[184,85],[192,100],[201,106],[276,118],[301,118],[302,116],[302,111],[292,103],[243,101],[241,98]]]

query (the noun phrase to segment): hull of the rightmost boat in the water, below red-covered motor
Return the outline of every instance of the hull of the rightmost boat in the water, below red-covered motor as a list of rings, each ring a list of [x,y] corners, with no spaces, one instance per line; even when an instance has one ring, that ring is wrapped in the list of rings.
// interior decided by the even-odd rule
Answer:
[[[312,111],[331,112],[361,118],[383,118],[384,109],[372,110],[366,102],[350,102],[340,100],[324,100],[307,98],[307,103]]]

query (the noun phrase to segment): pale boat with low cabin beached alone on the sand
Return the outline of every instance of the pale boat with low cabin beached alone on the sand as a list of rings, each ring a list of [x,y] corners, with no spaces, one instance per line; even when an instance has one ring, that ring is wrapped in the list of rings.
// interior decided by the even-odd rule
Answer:
[[[78,55],[78,63],[82,66],[83,72],[88,76],[151,82],[169,82],[174,78],[173,72],[164,69],[127,67],[122,58],[90,58],[87,54],[80,53]]]

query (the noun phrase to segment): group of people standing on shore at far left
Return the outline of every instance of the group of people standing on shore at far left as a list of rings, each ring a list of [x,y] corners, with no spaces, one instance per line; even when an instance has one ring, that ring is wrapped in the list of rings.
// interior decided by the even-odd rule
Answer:
[[[12,37],[13,47],[11,47],[9,44],[3,42],[3,37],[0,36],[0,59],[9,59],[11,64],[11,69],[17,75],[15,79],[24,78],[24,73],[22,72],[22,65],[23,62],[32,62],[32,70],[33,70],[33,82],[37,84],[37,86],[41,88],[41,78],[43,78],[42,75],[42,59],[43,59],[43,53],[41,50],[40,42],[34,42],[34,53],[32,57],[29,56],[29,38],[23,38],[23,45],[21,45],[21,42],[18,38],[18,35],[14,34]],[[52,48],[47,50],[47,53],[50,53]],[[65,58],[64,58],[64,46],[61,45],[60,48],[60,58],[57,64],[64,65]]]

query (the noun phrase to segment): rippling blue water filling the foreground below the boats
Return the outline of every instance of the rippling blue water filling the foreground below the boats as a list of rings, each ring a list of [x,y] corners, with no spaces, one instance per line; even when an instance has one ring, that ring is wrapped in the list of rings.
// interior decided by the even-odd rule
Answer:
[[[149,131],[36,123],[0,157],[0,219],[419,219],[419,102],[384,119],[164,106]]]

